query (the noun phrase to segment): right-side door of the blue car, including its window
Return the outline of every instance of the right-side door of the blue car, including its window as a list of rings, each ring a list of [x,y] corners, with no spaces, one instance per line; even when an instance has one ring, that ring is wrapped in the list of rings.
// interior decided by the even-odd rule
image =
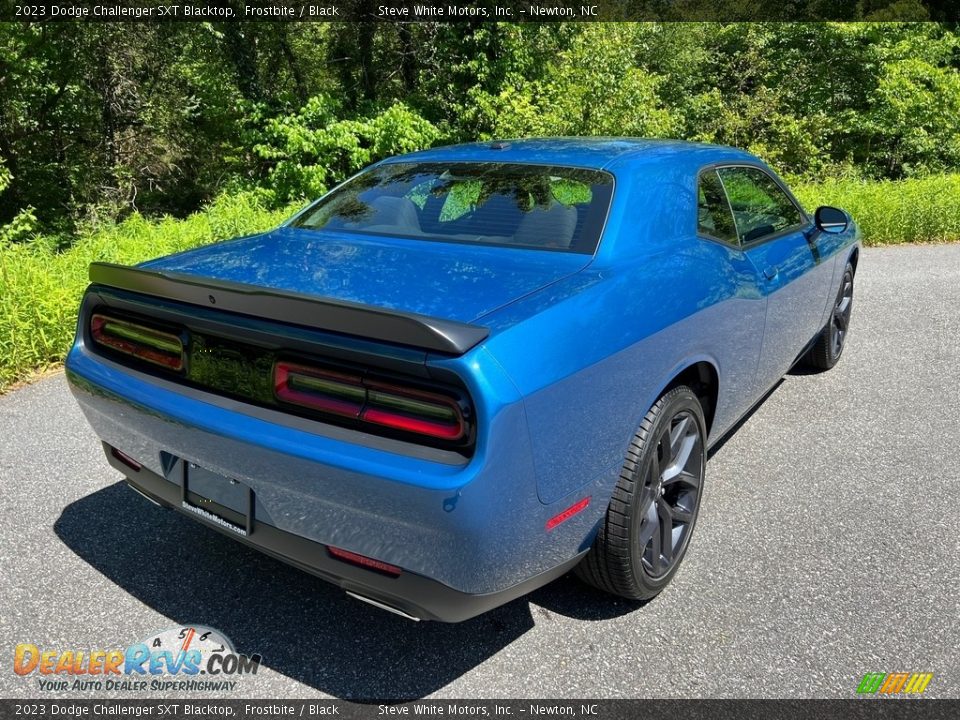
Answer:
[[[751,165],[718,167],[733,212],[737,237],[758,273],[767,297],[757,384],[772,386],[820,329],[829,262],[821,262],[807,240],[811,223],[799,205],[766,170]]]

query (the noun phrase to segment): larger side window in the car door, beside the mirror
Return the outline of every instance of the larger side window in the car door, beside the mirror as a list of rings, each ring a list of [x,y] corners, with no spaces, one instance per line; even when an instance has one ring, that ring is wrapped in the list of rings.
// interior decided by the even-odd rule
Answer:
[[[758,240],[803,222],[797,206],[763,170],[728,167],[717,173],[733,209],[740,242]]]

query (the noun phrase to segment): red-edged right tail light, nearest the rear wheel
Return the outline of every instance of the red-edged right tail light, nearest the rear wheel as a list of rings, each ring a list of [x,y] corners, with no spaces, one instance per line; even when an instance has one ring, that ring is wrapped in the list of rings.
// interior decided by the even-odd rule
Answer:
[[[467,434],[461,403],[442,393],[289,362],[274,366],[274,391],[282,402],[368,425],[447,442]]]

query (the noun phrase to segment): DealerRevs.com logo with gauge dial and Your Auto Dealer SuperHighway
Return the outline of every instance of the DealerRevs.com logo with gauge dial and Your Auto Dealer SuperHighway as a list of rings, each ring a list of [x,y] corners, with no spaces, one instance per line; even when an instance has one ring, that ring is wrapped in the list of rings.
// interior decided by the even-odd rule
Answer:
[[[13,671],[44,691],[232,691],[255,675],[260,655],[242,655],[221,632],[203,626],[154,633],[125,650],[41,649],[20,643]]]

